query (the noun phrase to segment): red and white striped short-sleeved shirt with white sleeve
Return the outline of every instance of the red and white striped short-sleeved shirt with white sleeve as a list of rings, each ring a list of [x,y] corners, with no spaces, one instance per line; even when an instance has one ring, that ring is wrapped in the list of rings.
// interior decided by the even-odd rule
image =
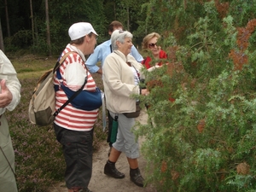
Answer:
[[[76,47],[67,44],[66,49],[62,52],[61,56],[65,55],[69,51],[76,51],[67,56],[66,60],[61,64],[60,73],[61,81],[56,77],[54,84],[64,84],[70,90],[79,90],[84,84],[84,79],[88,74],[87,83],[84,85],[84,90],[96,90],[96,83],[92,78],[90,72],[87,72],[85,67],[85,57],[83,53]],[[55,109],[61,108],[61,106],[67,102],[67,96],[61,89],[56,91],[55,97]],[[55,124],[63,128],[73,131],[90,131],[96,123],[98,116],[98,109],[92,111],[85,111],[79,108],[73,108],[71,103],[61,110],[61,112],[55,117]]]

